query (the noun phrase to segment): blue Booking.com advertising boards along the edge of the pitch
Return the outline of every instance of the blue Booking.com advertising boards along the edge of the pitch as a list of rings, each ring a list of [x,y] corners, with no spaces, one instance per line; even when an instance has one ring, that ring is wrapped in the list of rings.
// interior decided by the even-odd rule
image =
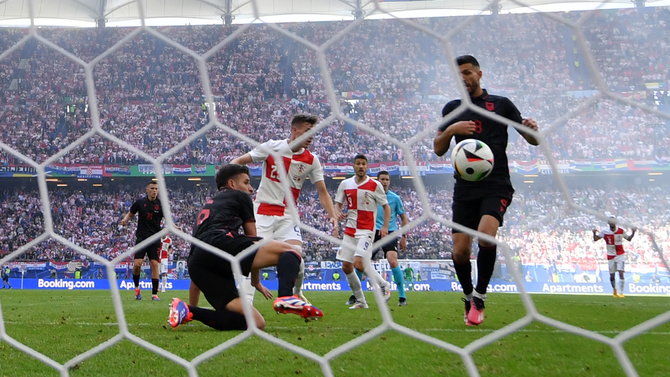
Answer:
[[[473,264],[476,261],[473,261]],[[462,291],[451,260],[400,260],[400,268],[405,276],[407,291]],[[78,260],[70,262],[10,262],[10,283],[12,287],[22,289],[59,289],[91,290],[109,289],[106,269],[97,262]],[[393,282],[391,268],[386,260],[375,261],[375,269],[389,282],[391,290],[398,287]],[[606,264],[595,261],[575,264],[520,264],[523,284],[530,293],[545,294],[612,294],[609,272]],[[150,267],[142,267],[145,276],[149,276]],[[121,262],[114,266],[116,284],[119,290],[133,289],[131,276],[132,262]],[[81,279],[75,279],[75,271],[81,272]],[[476,268],[473,268],[473,279]],[[277,289],[276,271],[265,269],[263,284],[270,290]],[[78,274],[79,275],[79,274]],[[339,275],[339,276],[338,276]],[[342,264],[339,261],[320,261],[305,263],[306,291],[349,291],[346,279],[343,279]],[[167,290],[188,290],[189,275],[185,261],[169,264]],[[661,264],[628,264],[625,271],[625,294],[667,295],[670,296],[670,274]],[[151,281],[142,279],[142,289],[150,289]],[[363,288],[374,289],[369,282],[363,281]],[[518,285],[511,279],[508,266],[498,263],[488,288],[492,293],[518,293]]]

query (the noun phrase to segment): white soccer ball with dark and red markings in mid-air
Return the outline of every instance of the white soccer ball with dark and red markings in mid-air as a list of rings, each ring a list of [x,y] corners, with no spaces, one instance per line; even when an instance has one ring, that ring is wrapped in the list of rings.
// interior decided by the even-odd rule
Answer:
[[[466,181],[481,181],[493,171],[493,152],[481,140],[465,139],[451,151],[451,165]]]

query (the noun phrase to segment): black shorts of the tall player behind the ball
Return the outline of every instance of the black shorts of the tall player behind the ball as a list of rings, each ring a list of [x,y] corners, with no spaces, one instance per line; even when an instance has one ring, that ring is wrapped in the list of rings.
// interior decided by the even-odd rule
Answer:
[[[510,203],[512,203],[512,193],[509,193],[509,195],[484,196],[469,200],[454,199],[454,203],[451,206],[453,210],[452,220],[457,224],[477,230],[482,216],[491,215],[502,226],[503,217]],[[460,233],[460,231],[452,229],[452,233]]]

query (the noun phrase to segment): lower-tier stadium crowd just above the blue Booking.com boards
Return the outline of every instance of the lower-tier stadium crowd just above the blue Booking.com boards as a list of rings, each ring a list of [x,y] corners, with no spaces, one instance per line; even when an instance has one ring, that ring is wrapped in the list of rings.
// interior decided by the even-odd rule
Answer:
[[[132,202],[143,192],[142,183],[107,185],[86,189],[58,187],[49,191],[54,232],[106,259],[112,259],[134,245],[135,223],[119,225]],[[423,214],[423,204],[410,188],[395,190],[403,199],[410,220]],[[428,201],[433,211],[444,219],[451,218],[451,190],[428,187]],[[197,211],[213,191],[205,185],[168,187],[171,214],[175,223],[190,232]],[[333,193],[334,194],[334,193]],[[651,231],[659,247],[670,249],[670,190],[667,187],[635,187],[605,190],[597,186],[571,191],[575,203],[600,213],[611,213],[620,219],[639,224]],[[591,229],[605,224],[579,211],[570,211],[559,191],[519,187],[505,217],[500,239],[518,252],[524,263],[586,263],[602,261],[604,244],[594,243]],[[313,188],[303,190],[298,203],[305,225],[330,233],[325,211]],[[28,243],[44,231],[41,201],[36,189],[15,186],[5,189],[0,200],[0,257]],[[306,260],[334,260],[339,246],[303,231]],[[188,256],[189,244],[176,240],[176,259]],[[658,257],[650,240],[640,233],[626,244],[630,262],[654,263]],[[402,258],[450,259],[451,231],[433,220],[421,222],[408,233],[408,251]],[[474,257],[474,256],[473,256]],[[66,245],[45,241],[27,250],[22,260],[70,261],[81,258]]]

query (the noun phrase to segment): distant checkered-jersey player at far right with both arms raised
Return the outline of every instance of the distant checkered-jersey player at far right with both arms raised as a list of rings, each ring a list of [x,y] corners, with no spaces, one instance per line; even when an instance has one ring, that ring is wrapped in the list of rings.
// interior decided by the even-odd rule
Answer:
[[[612,283],[612,289],[614,290],[614,297],[624,297],[624,262],[626,261],[626,252],[623,250],[623,240],[633,239],[635,236],[636,228],[632,228],[630,235],[627,235],[626,232],[619,228],[616,225],[616,218],[610,217],[607,221],[609,228],[603,229],[600,232],[597,229],[593,229],[593,241],[598,241],[601,239],[605,240],[607,244],[607,264],[610,270],[610,283]],[[616,277],[614,276],[616,271],[619,271],[619,292],[617,294],[616,289]]]

